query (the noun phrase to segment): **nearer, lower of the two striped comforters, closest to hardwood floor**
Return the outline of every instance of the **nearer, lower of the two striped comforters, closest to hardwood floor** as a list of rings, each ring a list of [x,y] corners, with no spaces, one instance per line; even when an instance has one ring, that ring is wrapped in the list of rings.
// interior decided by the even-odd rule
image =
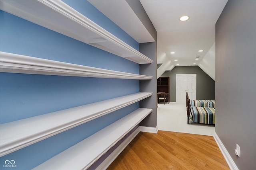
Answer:
[[[190,122],[215,124],[214,107],[190,107]]]

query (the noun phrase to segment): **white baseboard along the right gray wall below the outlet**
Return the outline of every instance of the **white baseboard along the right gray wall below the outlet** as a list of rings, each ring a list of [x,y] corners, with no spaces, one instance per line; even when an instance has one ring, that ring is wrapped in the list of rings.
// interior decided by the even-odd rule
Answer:
[[[220,141],[220,138],[218,137],[216,132],[214,132],[213,137],[214,137],[218,147],[220,148],[220,151],[222,152],[225,160],[227,161],[230,170],[239,170],[237,168],[235,162],[231,158],[230,154],[228,153],[228,150],[226,150],[226,148],[224,147],[223,143]]]

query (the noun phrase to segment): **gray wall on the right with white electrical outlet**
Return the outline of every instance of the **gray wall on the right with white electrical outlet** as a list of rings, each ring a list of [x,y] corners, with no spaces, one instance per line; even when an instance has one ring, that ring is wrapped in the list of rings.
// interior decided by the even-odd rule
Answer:
[[[240,170],[256,167],[255,16],[256,0],[229,0],[216,23],[215,131]]]

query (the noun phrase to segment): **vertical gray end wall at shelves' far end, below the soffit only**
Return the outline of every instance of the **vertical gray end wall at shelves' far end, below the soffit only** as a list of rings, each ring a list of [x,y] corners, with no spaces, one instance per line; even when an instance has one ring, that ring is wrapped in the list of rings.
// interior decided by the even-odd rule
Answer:
[[[140,80],[140,92],[153,92],[140,101],[140,107],[153,109],[140,126],[156,127],[156,42],[140,43],[140,52],[153,60],[152,64],[140,64],[140,74],[153,76],[152,80]]]

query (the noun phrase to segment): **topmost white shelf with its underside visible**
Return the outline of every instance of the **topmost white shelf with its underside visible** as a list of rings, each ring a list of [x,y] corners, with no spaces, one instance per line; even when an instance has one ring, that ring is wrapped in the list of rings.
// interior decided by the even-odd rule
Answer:
[[[61,0],[0,0],[0,9],[135,63],[152,63]]]

